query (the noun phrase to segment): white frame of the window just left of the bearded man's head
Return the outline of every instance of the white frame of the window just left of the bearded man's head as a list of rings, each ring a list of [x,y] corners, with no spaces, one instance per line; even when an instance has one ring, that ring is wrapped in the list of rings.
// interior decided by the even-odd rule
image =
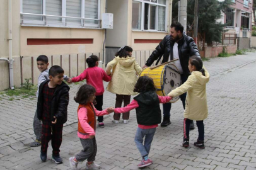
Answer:
[[[160,4],[158,3],[152,3],[151,1],[143,1],[143,0],[132,0],[137,1],[141,3],[141,30],[138,29],[132,29],[132,31],[156,31],[156,32],[166,32],[167,31],[167,16],[168,16],[168,6],[166,5],[168,3],[168,0],[166,0],[166,4]],[[144,30],[144,11],[145,11],[145,4],[149,4],[148,9],[148,15],[150,14],[150,5],[156,6],[156,30],[150,29],[150,20],[148,20],[148,30]],[[158,7],[163,6],[165,7],[165,30],[164,31],[158,31]],[[149,16],[150,17],[150,16]]]

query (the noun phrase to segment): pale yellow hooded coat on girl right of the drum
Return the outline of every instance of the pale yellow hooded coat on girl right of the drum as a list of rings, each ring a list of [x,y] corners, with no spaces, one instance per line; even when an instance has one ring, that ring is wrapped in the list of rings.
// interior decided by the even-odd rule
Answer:
[[[202,72],[193,71],[182,86],[171,91],[168,96],[180,96],[187,92],[184,118],[190,120],[204,120],[208,116],[206,83],[209,82],[210,74],[205,70],[206,76]]]

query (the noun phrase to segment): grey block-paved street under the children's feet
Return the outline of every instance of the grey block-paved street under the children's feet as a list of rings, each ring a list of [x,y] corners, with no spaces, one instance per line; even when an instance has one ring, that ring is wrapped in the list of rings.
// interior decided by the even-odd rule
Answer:
[[[168,127],[158,127],[149,157],[153,164],[144,169],[256,169],[256,53],[205,61],[211,74],[207,84],[209,117],[204,121],[206,149],[194,147],[197,128],[190,132],[190,147],[183,148],[183,107],[172,105]],[[105,83],[107,86],[107,83]],[[79,84],[72,84],[68,121],[61,145],[63,164],[50,160],[42,163],[40,147],[28,147],[33,141],[33,116],[36,98],[8,96],[0,100],[0,169],[70,169],[68,158],[77,154],[81,143],[77,137],[77,107],[74,94]],[[104,93],[103,108],[114,106],[115,95]],[[137,122],[131,111],[128,124],[113,124],[112,114],[105,116],[105,128],[97,128],[96,163],[102,169],[137,169],[141,156],[134,144]],[[51,157],[49,146],[48,157]],[[85,162],[78,165],[85,169]]]

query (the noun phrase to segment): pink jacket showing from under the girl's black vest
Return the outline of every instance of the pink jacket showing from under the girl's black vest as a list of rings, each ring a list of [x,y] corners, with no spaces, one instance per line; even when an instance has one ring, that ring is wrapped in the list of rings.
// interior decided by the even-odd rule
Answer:
[[[158,99],[160,101],[160,103],[167,103],[168,101],[171,100],[171,98],[169,96],[158,96]],[[137,103],[137,101],[135,99],[132,100],[132,102],[127,105],[126,107],[124,108],[115,108],[115,113],[125,113],[125,112],[128,112],[128,111],[131,111],[135,108],[138,108],[139,107],[139,104]],[[158,127],[158,125],[151,125],[151,126],[146,126],[146,125],[138,125],[139,128],[144,128],[144,129],[147,129],[147,128],[155,128],[155,127]]]

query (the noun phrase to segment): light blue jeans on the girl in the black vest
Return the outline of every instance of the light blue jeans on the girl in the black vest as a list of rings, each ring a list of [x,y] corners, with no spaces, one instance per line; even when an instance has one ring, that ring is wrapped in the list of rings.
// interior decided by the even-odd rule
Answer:
[[[139,127],[137,128],[134,142],[137,146],[137,149],[139,149],[139,152],[141,152],[142,157],[148,156],[155,132],[156,132],[156,128],[148,128],[148,129],[143,129]],[[145,140],[143,145],[144,137],[145,137]]]

